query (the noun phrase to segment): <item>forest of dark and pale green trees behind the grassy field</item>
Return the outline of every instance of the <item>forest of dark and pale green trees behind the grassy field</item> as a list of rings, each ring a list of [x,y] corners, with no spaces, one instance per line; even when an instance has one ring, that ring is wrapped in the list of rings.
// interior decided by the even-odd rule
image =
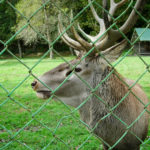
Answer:
[[[101,3],[101,0],[98,1]],[[40,9],[36,15],[33,15],[43,4],[45,4],[44,7]],[[3,42],[8,41],[13,35],[15,35],[16,32],[21,30],[27,22],[29,22],[29,25],[24,28],[20,34],[15,36],[11,43],[9,43],[9,49],[20,57],[42,55],[42,53],[48,50],[49,44],[43,40],[39,34],[51,43],[58,36],[58,14],[60,12],[68,14],[68,16],[62,16],[63,22],[66,23],[69,20],[71,9],[73,10],[75,16],[86,5],[87,1],[85,0],[52,0],[50,2],[47,2],[46,0],[13,0],[10,2],[5,1],[1,3],[0,51],[4,48]],[[101,10],[97,6],[95,7],[97,11],[101,13]],[[122,10],[117,11],[116,16],[118,16],[121,11]],[[146,4],[143,12],[146,12],[142,14],[144,17],[150,18],[150,4]],[[121,24],[125,19],[126,18],[122,18],[118,24]],[[89,8],[78,18],[77,21],[80,22],[80,25],[87,33],[95,34],[99,30],[97,23],[91,16],[91,11]],[[139,18],[136,27],[145,27],[145,24],[146,22],[143,18]],[[128,34],[129,38],[131,35],[132,32]],[[64,55],[70,53],[68,46],[62,43],[61,40],[56,42],[54,49]],[[5,56],[3,55],[3,57],[8,57],[7,53],[5,53]],[[53,54],[51,52],[50,58],[52,57]]]

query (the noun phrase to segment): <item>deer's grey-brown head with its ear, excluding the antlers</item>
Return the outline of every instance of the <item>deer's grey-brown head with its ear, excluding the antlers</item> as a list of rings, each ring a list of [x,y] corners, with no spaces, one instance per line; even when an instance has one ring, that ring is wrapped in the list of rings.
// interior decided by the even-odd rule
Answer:
[[[125,46],[126,41],[122,41],[106,51],[103,51],[101,54],[103,57],[113,62],[121,55],[121,51]],[[37,96],[44,99],[49,98],[51,91],[59,87],[70,75],[66,82],[56,90],[55,96],[68,105],[74,107],[80,105],[88,96],[88,87],[82,80],[86,81],[90,86],[93,81],[93,74],[96,71],[103,73],[104,69],[108,66],[106,60],[99,58],[99,56],[97,58],[88,57],[81,61],[83,55],[84,53],[79,53],[77,58],[70,61],[69,64],[63,63],[51,71],[44,73],[38,78],[39,81],[34,81],[32,87],[37,92]],[[40,81],[45,83],[49,89]]]

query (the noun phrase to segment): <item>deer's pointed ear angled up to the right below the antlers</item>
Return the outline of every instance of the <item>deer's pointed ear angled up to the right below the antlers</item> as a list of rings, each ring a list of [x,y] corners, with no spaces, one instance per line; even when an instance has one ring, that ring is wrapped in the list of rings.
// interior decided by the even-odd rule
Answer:
[[[122,51],[127,46],[127,41],[123,40],[120,43],[117,43],[116,45],[106,49],[105,51],[102,51],[101,54],[110,62],[114,62],[117,60],[120,55],[122,54]]]

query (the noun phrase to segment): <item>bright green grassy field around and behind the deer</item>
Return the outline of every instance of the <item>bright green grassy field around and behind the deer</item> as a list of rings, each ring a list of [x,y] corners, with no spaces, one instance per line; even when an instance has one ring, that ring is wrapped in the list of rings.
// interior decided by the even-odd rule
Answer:
[[[143,59],[150,64],[150,57]],[[22,61],[32,67],[38,59]],[[60,58],[44,59],[32,72],[39,76],[62,62]],[[137,80],[145,69],[137,57],[127,57],[117,66],[118,72],[133,80]],[[9,92],[13,91],[8,99],[7,92],[0,87],[0,149],[9,144],[7,150],[66,150],[78,149],[85,142],[82,150],[98,150],[99,140],[90,136],[80,122],[78,112],[73,114],[74,117],[70,116],[70,110],[61,102],[37,98],[30,86],[34,78],[27,78],[28,75],[28,69],[17,60],[0,60],[0,84]],[[150,73],[147,72],[138,83],[150,99]]]

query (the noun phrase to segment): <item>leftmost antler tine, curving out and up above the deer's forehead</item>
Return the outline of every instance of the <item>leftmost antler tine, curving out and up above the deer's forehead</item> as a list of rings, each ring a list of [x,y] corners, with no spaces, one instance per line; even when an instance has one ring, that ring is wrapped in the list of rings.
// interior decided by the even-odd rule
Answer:
[[[58,15],[58,32],[60,34],[63,33],[63,25],[61,23],[60,14]],[[85,51],[84,47],[79,42],[70,38],[66,32],[61,36],[61,39],[70,47]]]

